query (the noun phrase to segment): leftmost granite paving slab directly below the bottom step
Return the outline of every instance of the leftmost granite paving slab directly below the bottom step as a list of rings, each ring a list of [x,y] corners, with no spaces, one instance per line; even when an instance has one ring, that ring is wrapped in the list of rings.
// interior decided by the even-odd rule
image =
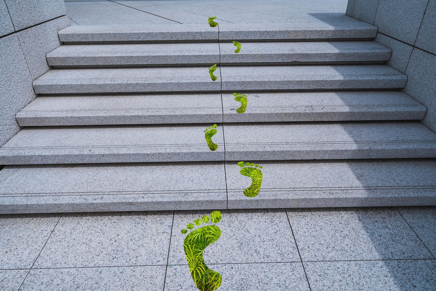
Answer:
[[[53,213],[1,215],[0,269],[32,267],[60,216]]]

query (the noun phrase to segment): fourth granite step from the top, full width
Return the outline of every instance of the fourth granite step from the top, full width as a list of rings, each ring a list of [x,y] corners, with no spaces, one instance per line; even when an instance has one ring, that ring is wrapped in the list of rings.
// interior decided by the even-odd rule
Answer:
[[[20,126],[421,120],[426,108],[399,91],[254,92],[245,113],[232,93],[39,96]],[[223,107],[224,106],[224,110]]]

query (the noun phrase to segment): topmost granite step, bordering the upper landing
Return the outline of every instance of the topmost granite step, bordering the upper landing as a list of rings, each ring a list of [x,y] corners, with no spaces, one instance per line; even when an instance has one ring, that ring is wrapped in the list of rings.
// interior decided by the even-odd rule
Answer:
[[[345,15],[319,22],[231,24],[74,25],[59,31],[60,41],[78,43],[170,43],[220,41],[299,41],[371,39],[377,27]],[[218,34],[219,29],[219,34]]]

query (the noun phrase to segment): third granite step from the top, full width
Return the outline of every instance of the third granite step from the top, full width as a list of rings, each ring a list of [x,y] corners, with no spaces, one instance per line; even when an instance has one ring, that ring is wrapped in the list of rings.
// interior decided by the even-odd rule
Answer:
[[[37,94],[403,88],[387,65],[54,68],[33,82]],[[222,82],[221,82],[222,79]]]

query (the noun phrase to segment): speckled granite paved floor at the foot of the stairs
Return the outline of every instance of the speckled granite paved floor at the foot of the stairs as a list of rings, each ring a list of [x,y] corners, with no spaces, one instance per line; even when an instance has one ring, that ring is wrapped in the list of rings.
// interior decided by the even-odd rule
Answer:
[[[197,290],[181,229],[208,213],[0,216],[0,290]],[[436,288],[436,207],[222,213],[220,291]]]

